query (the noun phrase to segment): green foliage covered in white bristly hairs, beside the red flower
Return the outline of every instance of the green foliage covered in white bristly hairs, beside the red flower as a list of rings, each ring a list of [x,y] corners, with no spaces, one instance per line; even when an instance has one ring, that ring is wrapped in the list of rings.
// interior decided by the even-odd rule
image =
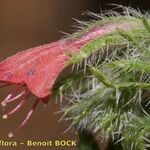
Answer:
[[[63,93],[68,105],[62,111],[78,129],[117,139],[125,150],[145,150],[150,148],[150,17],[129,8],[123,14],[111,15],[110,22],[121,17],[142,27],[93,39],[72,56],[69,64],[81,64],[74,72],[83,74]]]

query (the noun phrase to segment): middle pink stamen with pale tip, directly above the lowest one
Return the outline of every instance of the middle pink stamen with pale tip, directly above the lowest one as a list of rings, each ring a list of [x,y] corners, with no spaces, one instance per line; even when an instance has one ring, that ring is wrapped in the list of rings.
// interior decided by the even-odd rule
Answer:
[[[23,105],[24,103],[28,100],[30,94],[28,94],[14,109],[12,109],[9,113],[4,114],[2,116],[3,119],[7,119],[9,115],[14,114],[15,112],[17,112]]]

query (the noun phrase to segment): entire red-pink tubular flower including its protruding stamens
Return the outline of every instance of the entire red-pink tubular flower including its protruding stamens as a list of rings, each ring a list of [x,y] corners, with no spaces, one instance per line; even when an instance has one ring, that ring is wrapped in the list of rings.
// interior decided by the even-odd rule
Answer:
[[[7,119],[10,115],[17,112],[30,99],[32,94],[36,97],[35,103],[27,113],[26,118],[8,136],[13,137],[27,123],[39,101],[48,102],[52,94],[53,85],[69,60],[69,56],[66,55],[65,51],[78,53],[89,41],[104,36],[116,28],[128,27],[131,28],[132,24],[106,24],[91,29],[77,40],[62,39],[21,51],[2,61],[0,63],[0,86],[17,84],[17,87],[8,94],[1,102],[1,105],[5,107],[13,101],[22,99],[13,110],[4,114],[3,118]]]

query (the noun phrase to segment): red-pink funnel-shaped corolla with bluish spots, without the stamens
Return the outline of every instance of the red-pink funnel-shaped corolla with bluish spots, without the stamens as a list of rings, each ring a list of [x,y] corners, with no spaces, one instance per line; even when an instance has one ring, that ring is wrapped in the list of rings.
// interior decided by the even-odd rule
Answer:
[[[73,41],[62,39],[21,51],[0,63],[0,81],[24,82],[34,95],[43,99],[51,95],[53,85],[69,59],[66,50],[78,52],[88,41],[113,32],[116,28],[128,30],[133,27],[133,23],[109,23],[95,27]]]

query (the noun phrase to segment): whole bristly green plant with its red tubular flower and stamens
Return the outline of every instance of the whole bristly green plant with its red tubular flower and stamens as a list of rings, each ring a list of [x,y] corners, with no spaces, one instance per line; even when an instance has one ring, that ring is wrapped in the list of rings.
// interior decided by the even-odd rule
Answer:
[[[111,139],[125,150],[150,147],[149,15],[131,8],[90,14],[96,19],[78,21],[78,32],[0,63],[0,86],[16,84],[1,105],[20,100],[4,119],[35,96],[33,107],[9,137],[27,123],[40,101],[59,95],[67,101],[61,111],[71,127]],[[71,74],[54,86],[67,66],[72,66]]]

